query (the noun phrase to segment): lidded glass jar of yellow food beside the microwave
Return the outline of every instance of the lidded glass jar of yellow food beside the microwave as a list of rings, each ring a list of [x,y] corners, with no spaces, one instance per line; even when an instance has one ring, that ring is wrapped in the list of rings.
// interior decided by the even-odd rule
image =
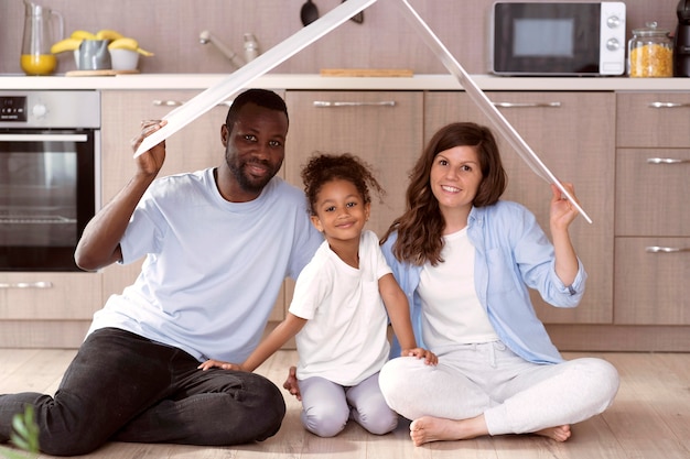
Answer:
[[[628,42],[628,75],[633,78],[672,77],[673,43],[669,31],[647,22],[644,29],[633,30]]]

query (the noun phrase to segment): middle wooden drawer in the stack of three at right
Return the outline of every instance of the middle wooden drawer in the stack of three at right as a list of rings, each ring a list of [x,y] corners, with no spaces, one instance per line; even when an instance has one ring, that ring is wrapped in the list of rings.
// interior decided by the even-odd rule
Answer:
[[[618,149],[615,234],[690,236],[689,175],[690,149]]]

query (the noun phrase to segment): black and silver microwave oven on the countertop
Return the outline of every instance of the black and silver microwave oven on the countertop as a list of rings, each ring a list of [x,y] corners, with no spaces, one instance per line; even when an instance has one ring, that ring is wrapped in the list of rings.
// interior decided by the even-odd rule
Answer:
[[[625,73],[625,3],[496,2],[489,72],[507,76]]]

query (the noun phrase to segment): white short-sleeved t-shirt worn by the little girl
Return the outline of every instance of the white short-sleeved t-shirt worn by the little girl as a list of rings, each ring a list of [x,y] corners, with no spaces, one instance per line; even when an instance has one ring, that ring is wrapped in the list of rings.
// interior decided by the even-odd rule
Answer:
[[[325,241],[302,270],[290,313],[308,319],[295,337],[298,379],[324,378],[356,385],[388,360],[388,315],[378,280],[391,273],[373,231],[359,242],[359,269],[346,264]]]

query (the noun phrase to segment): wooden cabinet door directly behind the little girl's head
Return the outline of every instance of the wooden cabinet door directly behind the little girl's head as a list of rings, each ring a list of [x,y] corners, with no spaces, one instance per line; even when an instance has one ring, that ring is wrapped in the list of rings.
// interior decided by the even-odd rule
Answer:
[[[315,152],[352,153],[369,163],[386,190],[371,195],[367,228],[379,237],[405,209],[408,173],[422,147],[421,91],[287,91],[290,133],[285,177],[302,186],[300,172]]]

